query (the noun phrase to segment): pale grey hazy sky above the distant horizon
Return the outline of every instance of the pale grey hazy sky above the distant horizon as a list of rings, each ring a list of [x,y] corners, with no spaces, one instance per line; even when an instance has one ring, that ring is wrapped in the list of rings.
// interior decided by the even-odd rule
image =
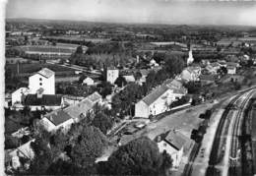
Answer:
[[[244,4],[194,1],[196,0],[9,0],[6,17],[114,23],[256,26],[256,1]]]

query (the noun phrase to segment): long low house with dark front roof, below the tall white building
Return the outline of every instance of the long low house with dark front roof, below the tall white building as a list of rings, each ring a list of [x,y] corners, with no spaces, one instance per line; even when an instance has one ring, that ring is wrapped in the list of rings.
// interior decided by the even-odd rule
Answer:
[[[86,117],[87,113],[93,109],[96,103],[101,103],[101,101],[101,95],[94,92],[74,105],[64,109],[56,109],[44,115],[40,123],[48,132],[56,131],[60,128],[63,131],[67,131],[73,123]]]

